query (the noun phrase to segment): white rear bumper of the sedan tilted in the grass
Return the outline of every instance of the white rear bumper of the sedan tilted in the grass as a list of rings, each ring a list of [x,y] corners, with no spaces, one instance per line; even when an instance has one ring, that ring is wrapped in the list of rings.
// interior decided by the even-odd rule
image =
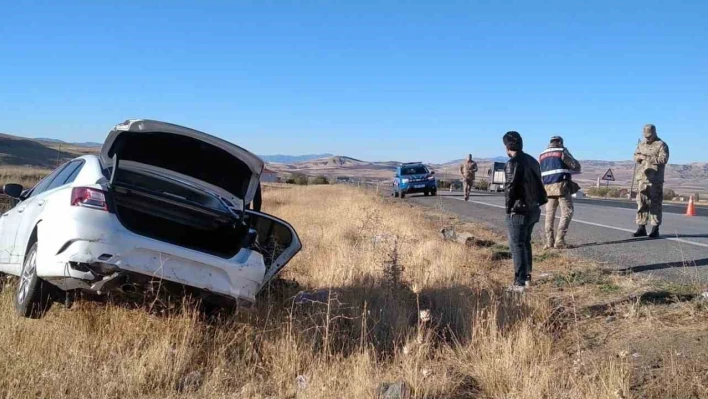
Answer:
[[[242,249],[224,259],[136,235],[114,215],[100,216],[102,220],[95,225],[64,226],[62,242],[51,239],[44,229],[50,226],[40,225],[37,275],[62,289],[99,291],[106,275],[96,270],[130,272],[255,301],[265,275],[260,253]],[[67,278],[72,281],[62,283]]]

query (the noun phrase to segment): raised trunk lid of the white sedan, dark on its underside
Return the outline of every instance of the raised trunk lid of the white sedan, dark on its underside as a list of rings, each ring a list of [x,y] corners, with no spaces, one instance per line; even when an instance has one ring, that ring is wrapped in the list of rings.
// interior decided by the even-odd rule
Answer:
[[[134,119],[116,125],[101,148],[104,167],[114,159],[136,167],[186,176],[192,184],[230,200],[253,201],[263,161],[218,137],[171,123]]]

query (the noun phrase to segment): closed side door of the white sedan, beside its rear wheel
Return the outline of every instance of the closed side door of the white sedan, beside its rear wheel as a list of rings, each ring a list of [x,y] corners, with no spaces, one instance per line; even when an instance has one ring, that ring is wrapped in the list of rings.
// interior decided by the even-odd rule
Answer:
[[[21,269],[27,243],[37,223],[37,219],[44,209],[44,204],[47,202],[47,195],[52,188],[52,182],[54,182],[68,165],[69,164],[64,164],[55,169],[32,189],[27,199],[17,205],[17,227],[10,254],[10,264],[15,268]]]

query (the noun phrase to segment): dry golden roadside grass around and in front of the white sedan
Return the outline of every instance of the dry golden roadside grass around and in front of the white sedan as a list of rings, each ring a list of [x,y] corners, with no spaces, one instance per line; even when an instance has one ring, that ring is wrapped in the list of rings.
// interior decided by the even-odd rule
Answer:
[[[703,303],[613,302],[651,285],[555,253],[535,267],[552,277],[509,296],[511,265],[494,260],[504,244],[493,233],[337,186],[268,187],[264,198],[304,243],[283,276],[299,287],[277,281],[251,312],[221,317],[81,301],[32,321],[14,316],[6,285],[0,396],[374,398],[395,381],[416,398],[708,395]],[[448,224],[499,244],[442,241]],[[296,304],[300,289],[324,294]],[[652,357],[657,336],[703,341]],[[645,370],[650,357],[658,363]]]

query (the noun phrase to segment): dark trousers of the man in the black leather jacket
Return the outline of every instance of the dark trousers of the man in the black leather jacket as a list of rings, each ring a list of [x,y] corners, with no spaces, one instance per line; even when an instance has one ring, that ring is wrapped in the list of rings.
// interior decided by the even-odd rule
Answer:
[[[514,258],[514,283],[523,285],[531,276],[533,252],[531,237],[533,228],[541,218],[541,207],[529,209],[527,213],[511,214],[506,217],[509,234],[509,249]]]

